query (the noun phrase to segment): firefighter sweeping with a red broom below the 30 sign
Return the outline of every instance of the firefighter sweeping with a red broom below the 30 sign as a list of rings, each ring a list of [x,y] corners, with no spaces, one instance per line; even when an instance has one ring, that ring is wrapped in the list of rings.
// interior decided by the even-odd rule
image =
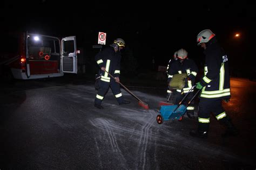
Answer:
[[[103,51],[100,51],[96,56],[95,60],[100,68],[100,84],[99,90],[95,97],[95,107],[98,109],[103,109],[102,101],[109,90],[111,88],[114,96],[117,99],[119,104],[129,104],[129,101],[124,100],[122,96],[120,85],[119,85],[119,76],[120,76],[120,61],[121,54],[120,50],[125,47],[125,42],[121,38],[117,38],[114,40],[113,44],[110,47],[106,47]],[[115,79],[113,79],[105,70],[113,75]]]

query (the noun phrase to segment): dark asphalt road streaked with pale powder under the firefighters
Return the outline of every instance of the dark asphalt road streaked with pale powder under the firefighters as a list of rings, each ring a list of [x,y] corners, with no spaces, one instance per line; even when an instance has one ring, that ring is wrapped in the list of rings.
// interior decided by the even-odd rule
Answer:
[[[0,169],[255,169],[255,85],[231,80],[224,107],[240,134],[225,139],[213,116],[207,139],[189,135],[197,119],[157,124],[164,88],[128,87],[149,110],[123,89],[130,104],[118,105],[110,90],[99,110],[84,79],[1,86]]]

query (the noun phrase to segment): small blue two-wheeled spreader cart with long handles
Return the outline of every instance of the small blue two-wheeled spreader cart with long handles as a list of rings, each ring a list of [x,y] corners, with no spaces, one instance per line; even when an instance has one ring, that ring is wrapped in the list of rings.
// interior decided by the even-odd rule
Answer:
[[[190,103],[194,100],[194,98],[197,96],[199,91],[201,91],[201,90],[198,90],[197,93],[194,94],[191,100],[187,103],[187,105],[181,104],[185,100],[185,98],[188,96],[188,94],[192,92],[194,87],[196,86],[193,86],[188,91],[188,93],[183,97],[183,99],[179,102],[178,105],[162,105],[160,108],[160,115],[157,115],[157,123],[163,124],[164,121],[175,120],[175,119],[182,121],[184,118],[184,114],[187,111],[188,105],[190,105]]]

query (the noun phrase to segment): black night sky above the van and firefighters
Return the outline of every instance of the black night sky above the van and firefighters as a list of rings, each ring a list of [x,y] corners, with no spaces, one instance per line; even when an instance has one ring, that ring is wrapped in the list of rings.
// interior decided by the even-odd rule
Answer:
[[[197,34],[211,29],[227,52],[231,67],[240,67],[241,62],[254,67],[248,59],[255,57],[255,1],[88,3],[2,1],[1,32],[28,30],[57,37],[76,36],[78,47],[86,51],[97,45],[98,32],[106,32],[107,45],[123,38],[140,62],[150,63],[154,57],[158,65],[167,65],[180,48],[200,61],[203,49],[197,46]],[[234,38],[237,32],[239,39]]]

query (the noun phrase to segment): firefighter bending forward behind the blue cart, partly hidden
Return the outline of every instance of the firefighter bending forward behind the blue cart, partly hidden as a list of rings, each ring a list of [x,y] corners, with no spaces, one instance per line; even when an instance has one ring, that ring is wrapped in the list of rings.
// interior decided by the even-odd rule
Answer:
[[[177,61],[174,61],[169,69],[169,82],[172,79],[174,74],[187,74],[186,84],[183,89],[177,89],[175,94],[177,95],[175,104],[178,104],[182,98],[188,93],[188,91],[192,88],[195,83],[195,79],[198,73],[198,67],[196,63],[187,58],[187,51],[183,48],[177,51]],[[191,100],[193,97],[193,90],[188,96],[186,97],[184,104]],[[186,112],[188,118],[194,118],[194,102],[192,101],[191,104],[187,107]]]

